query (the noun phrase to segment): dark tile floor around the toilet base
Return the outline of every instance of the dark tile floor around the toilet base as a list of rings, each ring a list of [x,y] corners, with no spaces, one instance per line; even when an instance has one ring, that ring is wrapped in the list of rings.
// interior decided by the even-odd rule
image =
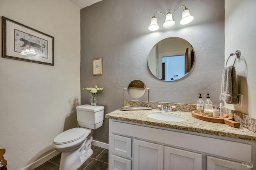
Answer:
[[[92,156],[77,170],[108,170],[108,150],[96,146],[91,147]],[[58,170],[60,168],[60,154],[48,160],[35,170]]]

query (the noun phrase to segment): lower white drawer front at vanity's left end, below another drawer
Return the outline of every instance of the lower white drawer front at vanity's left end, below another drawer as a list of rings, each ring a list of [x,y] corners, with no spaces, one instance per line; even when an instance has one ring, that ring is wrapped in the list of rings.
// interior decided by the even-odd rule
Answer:
[[[132,170],[131,160],[126,158],[121,158],[119,156],[111,154],[109,169],[110,170]]]

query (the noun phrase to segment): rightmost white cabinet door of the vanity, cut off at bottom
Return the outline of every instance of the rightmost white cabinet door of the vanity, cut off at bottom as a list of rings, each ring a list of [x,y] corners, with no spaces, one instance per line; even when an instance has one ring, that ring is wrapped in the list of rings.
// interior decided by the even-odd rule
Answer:
[[[213,156],[207,156],[207,170],[248,170],[246,165]]]

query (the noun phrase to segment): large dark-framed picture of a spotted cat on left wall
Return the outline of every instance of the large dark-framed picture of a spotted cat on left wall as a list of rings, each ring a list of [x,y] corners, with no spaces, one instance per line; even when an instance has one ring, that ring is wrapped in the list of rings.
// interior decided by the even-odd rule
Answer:
[[[2,16],[2,57],[54,66],[54,37]]]

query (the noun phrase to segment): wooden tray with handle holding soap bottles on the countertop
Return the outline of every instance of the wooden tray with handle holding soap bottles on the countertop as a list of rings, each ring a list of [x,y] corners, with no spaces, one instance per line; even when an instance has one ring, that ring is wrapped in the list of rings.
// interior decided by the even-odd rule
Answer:
[[[226,115],[226,114],[224,114],[224,117],[215,118],[215,117],[204,116],[200,113],[197,113],[196,110],[193,110],[192,116],[197,119],[204,120],[204,121],[210,121],[210,122],[214,122],[214,123],[225,123],[232,127],[240,126],[239,122],[233,121],[233,117],[230,115]]]

